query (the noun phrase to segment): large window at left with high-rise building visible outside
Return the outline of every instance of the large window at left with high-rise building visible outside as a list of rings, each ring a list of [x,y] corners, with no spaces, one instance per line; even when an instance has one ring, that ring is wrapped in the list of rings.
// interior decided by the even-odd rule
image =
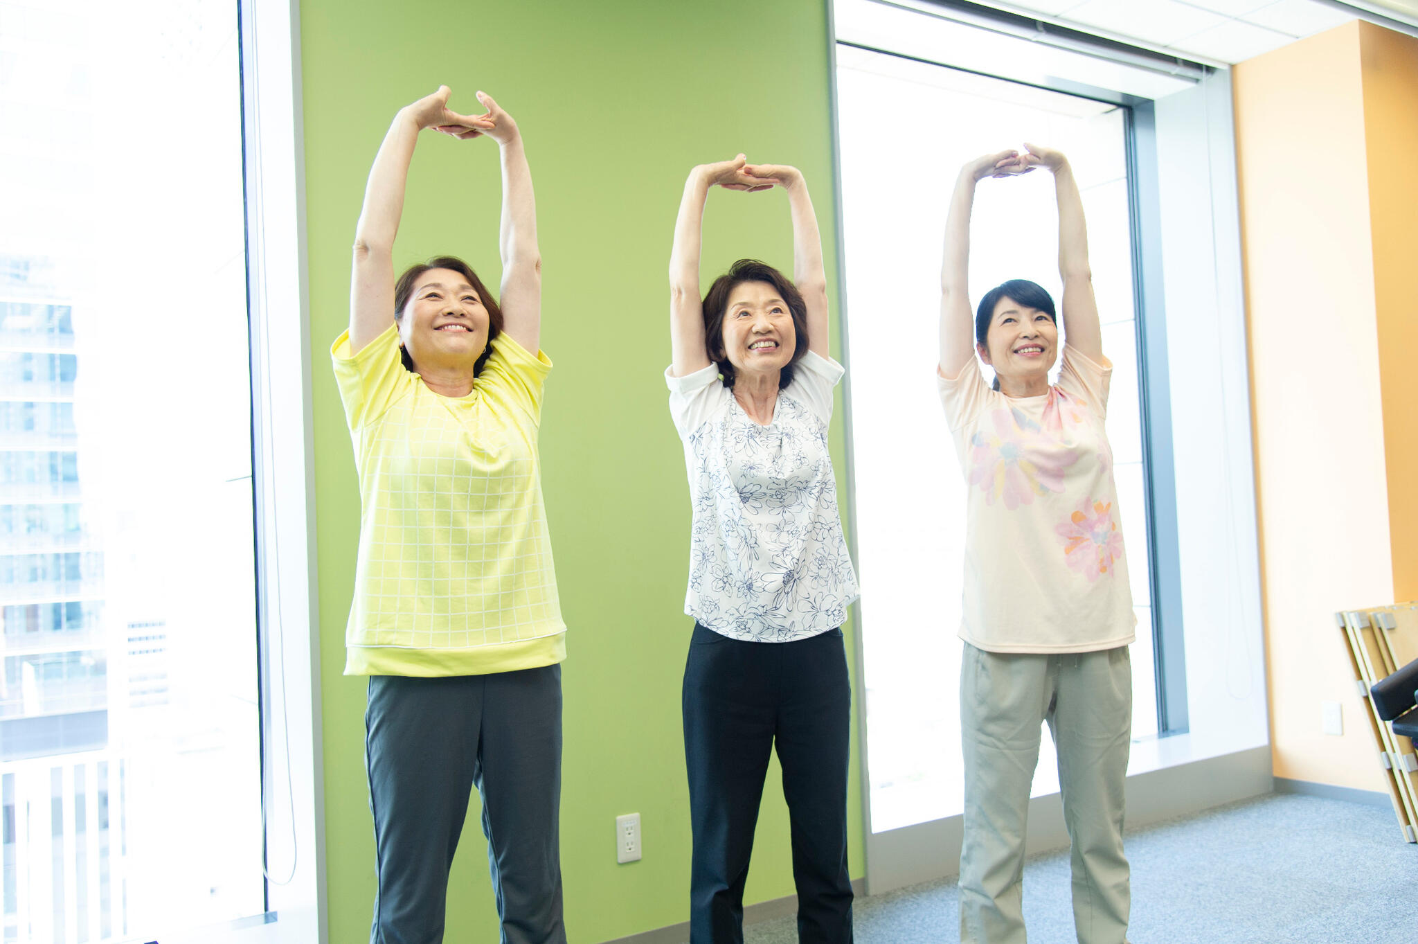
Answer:
[[[4,4],[0,940],[267,911],[230,0]]]

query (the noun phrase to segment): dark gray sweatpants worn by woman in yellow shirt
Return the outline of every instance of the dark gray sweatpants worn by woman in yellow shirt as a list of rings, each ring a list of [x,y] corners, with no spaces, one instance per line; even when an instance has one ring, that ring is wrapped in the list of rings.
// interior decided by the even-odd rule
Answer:
[[[502,944],[566,944],[562,666],[369,679],[364,765],[379,890],[370,944],[438,944],[476,785]]]

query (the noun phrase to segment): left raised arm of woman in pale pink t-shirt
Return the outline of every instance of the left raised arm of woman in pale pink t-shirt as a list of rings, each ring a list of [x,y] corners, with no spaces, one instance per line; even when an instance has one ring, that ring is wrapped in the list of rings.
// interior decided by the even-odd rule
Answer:
[[[940,374],[959,377],[974,359],[974,312],[970,309],[970,210],[976,184],[986,177],[1028,173],[1015,150],[976,157],[960,169],[946,213],[946,248],[940,259]]]

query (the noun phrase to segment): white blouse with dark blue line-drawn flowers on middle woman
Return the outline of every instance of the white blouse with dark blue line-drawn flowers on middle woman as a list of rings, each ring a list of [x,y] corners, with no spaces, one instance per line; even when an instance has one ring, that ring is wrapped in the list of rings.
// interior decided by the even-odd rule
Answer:
[[[760,427],[710,364],[672,377],[693,520],[685,612],[718,634],[791,642],[834,629],[856,600],[827,448],[842,366],[811,352]]]

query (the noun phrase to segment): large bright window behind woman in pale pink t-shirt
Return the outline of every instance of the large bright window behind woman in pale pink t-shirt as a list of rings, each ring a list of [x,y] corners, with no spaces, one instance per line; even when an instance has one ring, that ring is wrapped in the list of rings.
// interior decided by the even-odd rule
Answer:
[[[852,47],[838,50],[837,82],[866,738],[872,829],[879,832],[963,809],[956,632],[966,495],[934,384],[937,275],[956,172],[1025,140],[1064,150],[1083,193],[1103,346],[1115,364],[1107,431],[1137,615],[1133,736],[1159,730],[1132,116],[1095,98]],[[861,115],[871,120],[854,118]],[[980,184],[970,262],[973,300],[1010,278],[1029,278],[1059,298],[1049,174]],[[1034,794],[1056,790],[1045,737]]]

